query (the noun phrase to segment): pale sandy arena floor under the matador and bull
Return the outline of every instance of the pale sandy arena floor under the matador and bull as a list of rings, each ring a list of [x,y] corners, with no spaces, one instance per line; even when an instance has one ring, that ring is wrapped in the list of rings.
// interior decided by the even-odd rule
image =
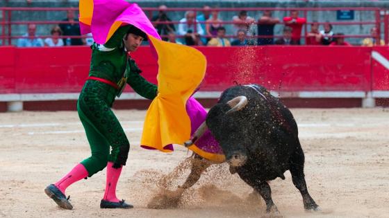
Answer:
[[[67,189],[74,210],[62,210],[43,190],[90,155],[76,112],[0,113],[0,217],[260,217],[265,205],[226,165],[211,167],[184,193],[179,208],[151,210],[156,181],[190,153],[139,147],[145,111],[116,111],[131,142],[118,197],[131,210],[101,210],[105,170]],[[306,154],[306,181],[322,212],[305,212],[285,181],[270,184],[285,217],[389,217],[389,109],[292,109]],[[188,170],[172,183],[179,185]],[[172,188],[174,189],[174,187]]]

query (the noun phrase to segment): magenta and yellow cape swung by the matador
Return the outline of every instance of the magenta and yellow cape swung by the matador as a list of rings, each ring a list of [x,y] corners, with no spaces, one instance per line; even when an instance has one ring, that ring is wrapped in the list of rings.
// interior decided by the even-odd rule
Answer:
[[[158,96],[147,110],[140,145],[172,152],[204,122],[206,110],[192,94],[204,78],[206,57],[195,48],[164,42],[136,3],[123,0],[81,0],[81,34],[92,33],[105,44],[122,25],[131,24],[147,34],[158,60]],[[210,161],[224,161],[224,154],[210,132],[189,147]]]

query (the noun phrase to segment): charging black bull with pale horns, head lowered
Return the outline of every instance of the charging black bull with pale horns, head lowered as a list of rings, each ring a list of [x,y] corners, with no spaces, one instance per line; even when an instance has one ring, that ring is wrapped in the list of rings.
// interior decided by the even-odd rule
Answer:
[[[206,128],[220,143],[231,173],[237,172],[263,197],[267,212],[278,211],[267,181],[277,177],[285,179],[283,173],[286,170],[290,170],[292,181],[301,192],[304,208],[319,209],[306,188],[304,152],[299,143],[295,118],[265,88],[247,85],[226,89],[217,105],[208,112],[206,122],[185,145],[195,143]],[[192,172],[183,188],[190,187],[199,179],[196,170],[201,173],[206,167],[208,165],[192,165]]]

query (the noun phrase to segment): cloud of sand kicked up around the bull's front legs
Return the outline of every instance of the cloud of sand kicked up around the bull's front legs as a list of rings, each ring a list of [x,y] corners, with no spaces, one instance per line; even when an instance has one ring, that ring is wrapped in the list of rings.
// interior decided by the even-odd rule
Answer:
[[[185,181],[186,176],[190,173],[192,161],[199,161],[194,158],[187,158],[174,168],[169,174],[164,174],[159,177],[154,176],[158,181],[154,181],[157,190],[147,208],[152,209],[167,209],[179,207],[198,207],[205,206],[207,208],[241,208],[244,210],[253,210],[261,206],[260,196],[256,192],[252,192],[244,197],[239,197],[231,190],[222,190],[218,188],[222,181],[229,181],[227,177],[231,174],[228,170],[228,165],[219,164],[212,165],[201,176],[192,188],[186,190],[178,188]],[[205,180],[205,181],[204,181]],[[174,189],[174,190],[172,190]],[[254,210],[255,210],[254,209]]]

